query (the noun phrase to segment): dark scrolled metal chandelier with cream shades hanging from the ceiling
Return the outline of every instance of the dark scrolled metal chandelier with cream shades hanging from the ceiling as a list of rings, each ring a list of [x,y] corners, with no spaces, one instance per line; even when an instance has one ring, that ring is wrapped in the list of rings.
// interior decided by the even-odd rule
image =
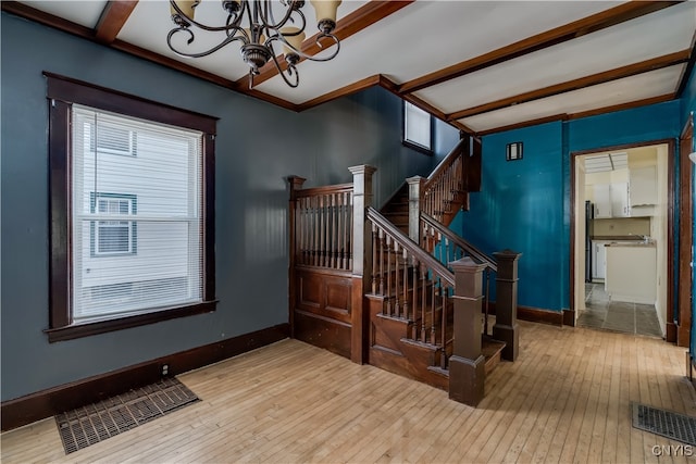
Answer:
[[[176,25],[166,36],[166,43],[175,53],[187,58],[201,58],[220,50],[232,42],[239,42],[241,59],[249,65],[249,88],[253,86],[253,76],[260,74],[269,61],[285,83],[290,87],[299,85],[297,63],[300,58],[311,61],[328,61],[338,54],[340,42],[332,33],[336,27],[336,10],[340,0],[311,0],[316,14],[316,46],[321,49],[332,48],[331,52],[309,55],[302,52],[304,27],[307,20],[301,8],[304,0],[222,0],[222,9],[226,14],[224,24],[210,26],[194,18],[196,7],[200,0],[170,0],[172,21]],[[275,17],[279,20],[276,21]],[[221,36],[220,41],[202,51],[190,51],[196,39],[194,30],[213,33]],[[175,39],[184,35],[184,40]],[[174,39],[174,40],[173,40]],[[178,46],[176,43],[179,43]],[[274,46],[283,47],[284,70],[278,61]]]

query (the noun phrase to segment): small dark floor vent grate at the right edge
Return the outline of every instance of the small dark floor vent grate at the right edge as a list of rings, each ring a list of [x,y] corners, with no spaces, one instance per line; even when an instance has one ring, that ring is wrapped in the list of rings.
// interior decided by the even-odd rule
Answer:
[[[631,403],[633,427],[696,446],[696,417]]]

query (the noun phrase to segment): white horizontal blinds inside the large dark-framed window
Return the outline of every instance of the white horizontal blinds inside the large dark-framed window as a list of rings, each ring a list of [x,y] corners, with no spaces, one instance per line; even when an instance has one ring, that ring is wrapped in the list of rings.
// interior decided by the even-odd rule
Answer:
[[[73,105],[75,323],[202,301],[202,134]]]

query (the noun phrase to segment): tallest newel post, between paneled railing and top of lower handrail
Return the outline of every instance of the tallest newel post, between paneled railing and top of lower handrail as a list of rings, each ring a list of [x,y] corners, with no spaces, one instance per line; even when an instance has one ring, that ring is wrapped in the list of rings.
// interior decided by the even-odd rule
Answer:
[[[362,364],[368,360],[370,314],[364,294],[372,285],[372,229],[365,210],[372,206],[372,175],[376,167],[351,166],[352,173],[352,293],[350,299],[350,360]]]

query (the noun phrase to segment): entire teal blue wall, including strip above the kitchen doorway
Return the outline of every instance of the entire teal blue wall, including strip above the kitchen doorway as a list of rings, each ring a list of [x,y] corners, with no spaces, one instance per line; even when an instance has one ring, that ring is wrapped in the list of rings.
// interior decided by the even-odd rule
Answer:
[[[570,154],[626,143],[676,139],[680,101],[542,124],[483,138],[482,191],[452,227],[486,252],[522,252],[519,303],[570,308]],[[506,145],[524,158],[505,160]],[[495,298],[495,297],[494,297]]]

